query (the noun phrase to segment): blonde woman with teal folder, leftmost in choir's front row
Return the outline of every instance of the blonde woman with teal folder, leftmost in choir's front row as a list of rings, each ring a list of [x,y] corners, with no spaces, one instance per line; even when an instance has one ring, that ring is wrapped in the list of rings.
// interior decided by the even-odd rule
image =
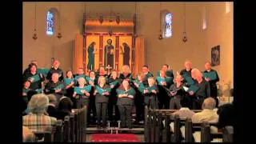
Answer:
[[[76,105],[78,109],[82,109],[83,106],[89,106],[89,97],[91,86],[86,86],[85,78],[78,78],[79,86],[74,87],[73,97],[76,99]]]

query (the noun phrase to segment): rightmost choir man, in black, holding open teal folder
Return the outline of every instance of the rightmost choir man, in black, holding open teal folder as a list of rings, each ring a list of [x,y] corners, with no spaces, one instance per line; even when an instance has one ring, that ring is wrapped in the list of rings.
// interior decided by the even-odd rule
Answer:
[[[210,84],[210,96],[213,97],[216,101],[216,106],[218,106],[218,90],[216,83],[219,81],[218,73],[216,70],[211,68],[211,63],[206,62],[205,64],[206,70],[203,72],[204,78],[206,82]]]

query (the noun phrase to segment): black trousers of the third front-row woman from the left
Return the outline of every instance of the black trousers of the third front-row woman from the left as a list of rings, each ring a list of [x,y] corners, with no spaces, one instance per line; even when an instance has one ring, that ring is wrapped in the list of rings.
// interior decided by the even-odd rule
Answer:
[[[121,114],[121,127],[132,128],[132,107],[131,105],[118,105]]]

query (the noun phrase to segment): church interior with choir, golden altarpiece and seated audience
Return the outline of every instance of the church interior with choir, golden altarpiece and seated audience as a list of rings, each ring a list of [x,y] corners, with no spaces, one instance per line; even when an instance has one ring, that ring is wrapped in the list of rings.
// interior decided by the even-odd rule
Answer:
[[[234,141],[234,2],[22,11],[23,142]]]

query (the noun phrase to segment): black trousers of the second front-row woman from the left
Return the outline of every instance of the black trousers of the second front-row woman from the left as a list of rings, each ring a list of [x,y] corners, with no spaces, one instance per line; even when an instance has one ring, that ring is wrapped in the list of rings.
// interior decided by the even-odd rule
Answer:
[[[96,112],[97,112],[97,124],[100,125],[102,118],[102,126],[106,126],[106,102],[96,102]]]

